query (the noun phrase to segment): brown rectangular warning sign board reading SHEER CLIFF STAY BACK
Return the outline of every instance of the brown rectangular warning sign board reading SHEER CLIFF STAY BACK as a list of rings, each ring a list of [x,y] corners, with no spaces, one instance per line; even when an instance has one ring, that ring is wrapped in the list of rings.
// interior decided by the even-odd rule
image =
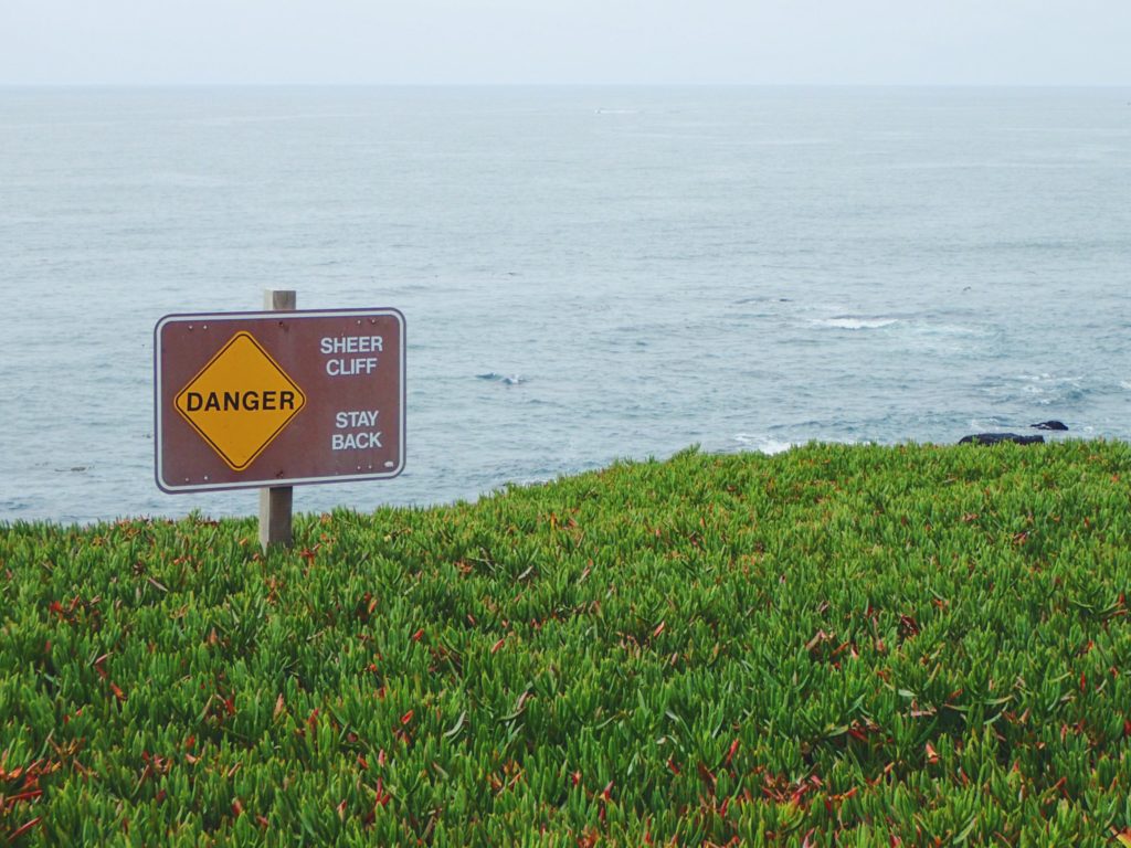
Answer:
[[[166,315],[154,356],[165,492],[374,479],[404,467],[397,310]]]

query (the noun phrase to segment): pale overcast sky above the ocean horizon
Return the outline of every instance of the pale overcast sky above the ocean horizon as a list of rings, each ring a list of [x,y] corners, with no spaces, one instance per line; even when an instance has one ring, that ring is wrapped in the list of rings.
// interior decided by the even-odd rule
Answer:
[[[0,0],[0,84],[1131,85],[1131,0]]]

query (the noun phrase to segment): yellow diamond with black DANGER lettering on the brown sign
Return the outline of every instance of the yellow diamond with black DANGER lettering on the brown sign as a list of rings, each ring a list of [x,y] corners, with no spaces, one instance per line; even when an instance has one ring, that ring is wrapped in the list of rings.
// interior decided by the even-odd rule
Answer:
[[[174,399],[230,468],[242,471],[307,404],[250,332],[238,332]]]

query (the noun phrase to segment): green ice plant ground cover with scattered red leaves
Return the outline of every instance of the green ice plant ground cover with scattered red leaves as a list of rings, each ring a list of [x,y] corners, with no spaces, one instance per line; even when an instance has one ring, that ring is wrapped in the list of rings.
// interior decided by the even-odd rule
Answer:
[[[0,527],[0,842],[1131,845],[1131,449]]]

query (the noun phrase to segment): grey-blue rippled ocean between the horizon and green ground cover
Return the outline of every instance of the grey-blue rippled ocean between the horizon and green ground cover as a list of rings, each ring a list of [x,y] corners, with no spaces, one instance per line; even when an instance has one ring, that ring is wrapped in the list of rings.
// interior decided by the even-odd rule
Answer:
[[[0,88],[0,521],[251,514],[154,482],[166,314],[406,317],[402,476],[1128,439],[1131,89]]]

